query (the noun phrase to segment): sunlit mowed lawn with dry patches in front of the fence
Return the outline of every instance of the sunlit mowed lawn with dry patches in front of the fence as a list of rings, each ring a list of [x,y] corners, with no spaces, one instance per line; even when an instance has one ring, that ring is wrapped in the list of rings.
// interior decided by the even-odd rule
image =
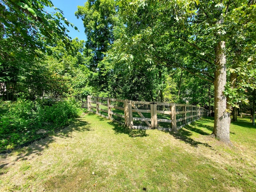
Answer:
[[[256,127],[232,123],[226,146],[213,119],[178,133],[128,130],[84,114],[64,130],[0,156],[0,191],[254,192]]]

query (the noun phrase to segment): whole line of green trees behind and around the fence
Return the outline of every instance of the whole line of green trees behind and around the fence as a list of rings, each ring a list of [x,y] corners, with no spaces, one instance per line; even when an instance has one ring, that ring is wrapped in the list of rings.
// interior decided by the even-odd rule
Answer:
[[[200,105],[229,143],[230,113],[255,116],[254,0],[88,0],[71,40],[44,1],[0,1],[3,99],[87,95]]]

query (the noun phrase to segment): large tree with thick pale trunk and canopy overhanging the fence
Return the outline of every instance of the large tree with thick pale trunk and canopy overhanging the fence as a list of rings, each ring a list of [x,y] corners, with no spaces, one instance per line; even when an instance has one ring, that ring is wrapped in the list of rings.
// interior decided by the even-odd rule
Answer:
[[[122,52],[137,50],[134,59],[182,68],[214,83],[213,135],[230,143],[229,105],[226,106],[226,42],[253,19],[255,2],[248,1],[126,1],[119,2],[128,37],[118,42]],[[239,14],[238,14],[239,13]],[[242,19],[241,19],[242,18]],[[234,22],[236,26],[228,25]],[[250,22],[252,24],[253,22]],[[136,58],[138,57],[138,58]]]

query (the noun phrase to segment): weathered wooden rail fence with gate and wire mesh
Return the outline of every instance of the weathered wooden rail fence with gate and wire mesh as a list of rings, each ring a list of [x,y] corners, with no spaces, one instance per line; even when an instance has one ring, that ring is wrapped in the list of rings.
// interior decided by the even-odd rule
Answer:
[[[143,102],[88,96],[88,110],[132,129],[177,131],[208,110],[188,104]]]

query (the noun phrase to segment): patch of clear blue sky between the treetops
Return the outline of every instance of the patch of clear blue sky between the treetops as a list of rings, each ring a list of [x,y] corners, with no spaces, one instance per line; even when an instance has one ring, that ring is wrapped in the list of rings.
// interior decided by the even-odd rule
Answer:
[[[77,19],[75,16],[77,6],[83,6],[85,2],[86,0],[52,0],[54,6],[63,11],[64,17],[78,28],[79,32],[74,30],[72,27],[67,27],[67,29],[70,31],[68,35],[72,39],[78,37],[80,40],[86,40],[83,21],[81,18]]]

